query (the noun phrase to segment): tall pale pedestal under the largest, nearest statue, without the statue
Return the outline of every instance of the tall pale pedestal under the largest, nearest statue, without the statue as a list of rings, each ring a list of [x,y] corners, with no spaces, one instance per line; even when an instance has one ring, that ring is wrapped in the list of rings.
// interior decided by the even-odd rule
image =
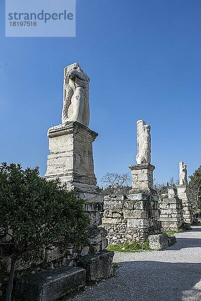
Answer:
[[[53,126],[48,130],[50,155],[45,178],[59,178],[67,190],[76,189],[84,200],[91,227],[101,224],[103,197],[96,186],[92,142],[97,133],[77,121]]]

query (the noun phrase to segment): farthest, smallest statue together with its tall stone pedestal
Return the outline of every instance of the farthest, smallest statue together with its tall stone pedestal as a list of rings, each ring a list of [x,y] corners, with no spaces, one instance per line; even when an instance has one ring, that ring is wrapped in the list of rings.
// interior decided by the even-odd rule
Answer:
[[[178,197],[182,201],[184,223],[192,225],[192,203],[188,195],[187,169],[183,162],[179,162],[179,185],[176,188]]]

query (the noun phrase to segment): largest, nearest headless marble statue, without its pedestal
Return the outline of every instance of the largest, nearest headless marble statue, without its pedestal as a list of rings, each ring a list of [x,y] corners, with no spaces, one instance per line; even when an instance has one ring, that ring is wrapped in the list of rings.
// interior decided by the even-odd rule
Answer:
[[[62,123],[89,124],[89,78],[78,63],[64,69]]]

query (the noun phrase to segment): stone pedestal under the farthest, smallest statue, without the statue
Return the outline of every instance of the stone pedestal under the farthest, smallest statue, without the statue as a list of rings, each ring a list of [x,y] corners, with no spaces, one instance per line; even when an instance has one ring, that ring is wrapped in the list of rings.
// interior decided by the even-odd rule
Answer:
[[[192,225],[192,204],[188,197],[188,186],[178,185],[176,188],[178,198],[182,201],[184,223],[190,223]]]

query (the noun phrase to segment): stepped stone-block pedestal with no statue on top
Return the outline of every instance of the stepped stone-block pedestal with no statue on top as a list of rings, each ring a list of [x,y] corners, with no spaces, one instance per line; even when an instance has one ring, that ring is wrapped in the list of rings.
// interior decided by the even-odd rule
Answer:
[[[162,229],[178,231],[183,225],[183,210],[175,188],[168,188],[168,197],[160,200],[159,208]]]

